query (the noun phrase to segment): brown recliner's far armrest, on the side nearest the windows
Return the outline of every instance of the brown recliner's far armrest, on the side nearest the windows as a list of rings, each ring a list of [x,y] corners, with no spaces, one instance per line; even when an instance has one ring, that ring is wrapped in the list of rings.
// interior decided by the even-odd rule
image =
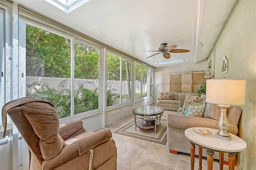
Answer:
[[[63,140],[76,136],[84,131],[86,130],[83,127],[83,122],[81,119],[74,119],[72,121],[60,124],[59,128],[59,134]]]

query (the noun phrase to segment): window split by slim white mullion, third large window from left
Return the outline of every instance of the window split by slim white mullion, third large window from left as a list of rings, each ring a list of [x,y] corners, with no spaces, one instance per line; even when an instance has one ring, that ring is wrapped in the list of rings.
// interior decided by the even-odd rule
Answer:
[[[132,61],[107,53],[107,107],[132,101],[131,66]]]

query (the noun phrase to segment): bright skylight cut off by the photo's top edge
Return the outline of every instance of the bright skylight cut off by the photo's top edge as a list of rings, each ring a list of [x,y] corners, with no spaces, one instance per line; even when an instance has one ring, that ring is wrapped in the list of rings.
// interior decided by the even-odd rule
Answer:
[[[71,11],[79,8],[89,0],[45,0],[50,4],[56,6],[57,8],[63,10],[66,13],[70,13]]]

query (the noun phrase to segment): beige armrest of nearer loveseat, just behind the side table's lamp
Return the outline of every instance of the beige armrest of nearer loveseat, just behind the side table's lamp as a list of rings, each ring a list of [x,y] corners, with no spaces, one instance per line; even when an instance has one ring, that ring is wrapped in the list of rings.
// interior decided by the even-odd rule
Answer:
[[[219,129],[217,126],[218,120],[215,119],[172,114],[169,114],[167,119],[168,126],[175,128],[187,129],[191,127],[206,127]],[[236,135],[238,133],[238,127],[230,123],[230,128],[228,129],[228,132]]]

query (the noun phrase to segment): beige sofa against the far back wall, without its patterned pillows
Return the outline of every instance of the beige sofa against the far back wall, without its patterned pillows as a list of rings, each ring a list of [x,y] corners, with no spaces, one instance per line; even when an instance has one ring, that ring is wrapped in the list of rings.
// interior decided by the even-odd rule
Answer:
[[[190,95],[196,95],[196,93],[188,93]],[[178,111],[180,108],[180,101],[185,100],[186,93],[174,93],[174,100],[162,100],[160,97],[157,97],[156,105],[163,107],[165,110],[169,111]],[[183,106],[183,103],[182,105]]]

